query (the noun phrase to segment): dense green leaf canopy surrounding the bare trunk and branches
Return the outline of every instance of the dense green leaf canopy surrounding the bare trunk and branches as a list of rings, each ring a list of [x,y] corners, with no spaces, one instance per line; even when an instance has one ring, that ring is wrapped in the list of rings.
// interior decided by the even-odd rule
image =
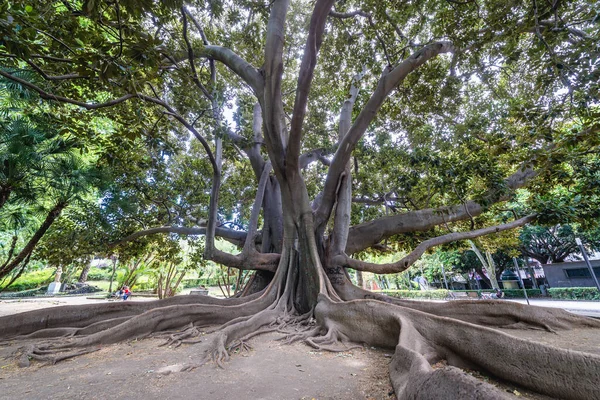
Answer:
[[[291,5],[282,80],[287,113],[309,9]],[[517,247],[541,262],[576,252],[566,230],[589,231],[600,209],[593,8],[577,2],[521,8],[519,2],[345,1],[335,10],[303,128],[302,151],[321,160],[302,171],[309,196],[326,186],[339,140],[339,109],[350,85],[360,88],[360,110],[388,65],[442,38],[457,50],[400,83],[356,145],[351,223],[477,201],[484,207],[479,215],[467,212],[467,218],[421,231],[391,232],[372,244],[377,251],[381,245],[410,251],[448,231],[506,222],[510,208],[519,216],[535,214],[544,225],[524,229],[520,246],[514,235],[478,244],[494,254],[498,274],[510,267],[506,254],[514,255]],[[2,274],[18,273],[31,256],[80,268],[92,255],[115,253],[123,265],[150,252],[175,257],[185,237],[177,233],[120,247],[112,243],[156,226],[206,226],[213,181],[206,145],[216,139],[223,142],[225,160],[218,224],[247,229],[261,167],[247,162],[256,145],[254,89],[247,77],[236,76],[230,60],[202,47],[232,47],[245,61],[262,65],[259,32],[268,13],[267,5],[227,1],[3,4],[0,234],[2,259],[11,268]],[[199,135],[206,142],[196,140]],[[258,151],[267,155],[264,147]],[[506,178],[525,166],[535,168],[536,176],[518,205],[495,205],[511,198]],[[87,177],[91,167],[103,171],[101,179]],[[10,262],[59,203],[67,208],[36,242],[36,251]],[[564,243],[545,245],[563,237]],[[596,239],[588,240],[590,249],[597,248]],[[192,240],[192,246],[198,255],[204,251],[202,242]],[[440,262],[456,272],[476,268],[468,243],[455,248],[462,250],[461,260],[433,263],[430,279],[440,276]],[[357,250],[373,254],[372,246]],[[201,257],[197,261],[202,265]]]

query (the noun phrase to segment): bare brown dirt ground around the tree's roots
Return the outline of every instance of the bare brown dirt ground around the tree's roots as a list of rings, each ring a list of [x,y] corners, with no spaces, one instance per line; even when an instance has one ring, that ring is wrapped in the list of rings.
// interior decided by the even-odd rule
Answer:
[[[53,302],[42,302],[37,307],[54,305]],[[36,306],[22,302],[4,303],[0,304],[0,315],[19,312],[23,308]],[[594,330],[559,334],[504,332],[600,354],[600,334]],[[271,333],[251,339],[253,349],[249,353],[232,354],[225,369],[207,364],[190,372],[166,376],[156,371],[197,360],[201,345],[160,347],[163,340],[145,339],[105,346],[97,352],[56,365],[33,362],[28,368],[19,368],[14,354],[25,343],[4,343],[0,344],[0,399],[395,399],[388,373],[392,350],[363,347],[343,353],[320,352],[301,343],[281,344],[276,340],[279,337]],[[548,399],[497,382],[485,374],[471,373],[497,385],[514,398]]]

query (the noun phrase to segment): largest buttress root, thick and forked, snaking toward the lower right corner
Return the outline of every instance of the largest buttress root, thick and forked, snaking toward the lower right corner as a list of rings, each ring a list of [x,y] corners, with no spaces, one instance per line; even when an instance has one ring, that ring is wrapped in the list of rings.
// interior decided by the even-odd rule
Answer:
[[[518,339],[494,329],[391,306],[373,300],[333,303],[320,296],[315,309],[320,326],[351,341],[396,348],[390,377],[398,398],[503,398],[452,367],[492,375],[539,393],[564,399],[600,398],[600,357]],[[427,384],[427,387],[423,385]]]

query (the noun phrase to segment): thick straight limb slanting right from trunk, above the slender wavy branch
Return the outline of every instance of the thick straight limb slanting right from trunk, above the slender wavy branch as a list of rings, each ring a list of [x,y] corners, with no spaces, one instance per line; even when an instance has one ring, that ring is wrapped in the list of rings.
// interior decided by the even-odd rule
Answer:
[[[505,180],[509,189],[518,189],[537,176],[531,168],[520,169]],[[491,192],[486,196],[489,203],[496,203],[508,199],[508,195]],[[439,208],[426,208],[402,214],[379,218],[350,228],[346,254],[353,254],[368,249],[385,238],[400,233],[423,232],[435,226],[463,221],[476,217],[484,211],[484,207],[474,201],[455,206]]]

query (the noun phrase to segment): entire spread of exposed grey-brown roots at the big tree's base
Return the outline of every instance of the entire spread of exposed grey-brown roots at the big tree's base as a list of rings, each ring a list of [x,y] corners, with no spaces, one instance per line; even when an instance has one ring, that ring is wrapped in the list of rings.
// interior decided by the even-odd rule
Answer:
[[[202,342],[198,360],[170,365],[158,373],[187,371],[210,361],[223,368],[231,352],[251,350],[250,338],[277,331],[285,334],[284,343],[302,340],[318,350],[347,351],[360,347],[359,343],[395,349],[390,377],[399,399],[506,398],[505,393],[459,368],[485,371],[554,397],[600,398],[600,356],[553,348],[481,326],[553,331],[597,327],[598,321],[501,301],[428,303],[384,298],[386,302],[334,302],[326,295],[319,296],[314,310],[298,315],[287,292],[267,293],[243,305],[178,304],[82,327],[43,329],[20,338],[60,338],[23,348],[19,365],[29,365],[30,359],[55,363],[96,351],[101,345],[158,335],[166,339],[163,345],[174,347]],[[200,330],[208,325],[219,325],[210,337]],[[447,367],[432,368],[444,360]]]

